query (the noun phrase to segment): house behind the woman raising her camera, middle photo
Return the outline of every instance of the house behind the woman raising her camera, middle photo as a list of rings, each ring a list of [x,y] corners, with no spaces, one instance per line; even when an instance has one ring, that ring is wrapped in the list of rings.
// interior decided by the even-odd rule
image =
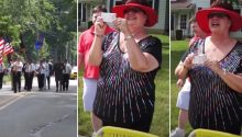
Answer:
[[[150,5],[158,14],[158,22],[148,28],[153,33],[169,33],[169,0],[147,0]],[[122,4],[123,0],[78,0],[78,26],[80,30],[88,27],[88,21],[91,18],[91,10],[97,4],[106,4],[108,11],[114,5]]]

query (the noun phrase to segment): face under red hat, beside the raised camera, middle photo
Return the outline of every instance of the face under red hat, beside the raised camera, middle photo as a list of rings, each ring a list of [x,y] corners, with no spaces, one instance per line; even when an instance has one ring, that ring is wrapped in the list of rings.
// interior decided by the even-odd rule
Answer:
[[[144,11],[142,11],[139,8],[130,8],[123,11],[124,12],[124,19],[127,19],[128,26],[131,27],[144,27],[144,24],[146,23],[146,14]]]

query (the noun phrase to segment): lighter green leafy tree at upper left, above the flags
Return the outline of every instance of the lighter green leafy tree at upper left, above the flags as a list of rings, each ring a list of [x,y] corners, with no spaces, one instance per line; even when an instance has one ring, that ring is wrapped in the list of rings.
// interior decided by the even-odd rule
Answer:
[[[22,52],[21,48],[25,48],[25,45],[34,42],[33,35],[36,32],[50,28],[52,22],[50,16],[54,12],[54,7],[48,0],[2,0],[1,5],[0,13],[2,16],[7,16],[6,23],[9,25],[9,27],[4,27],[0,24],[2,35],[12,37],[14,42],[12,45],[15,49],[19,47],[19,50],[15,50],[19,54]],[[26,33],[31,35],[25,35]],[[22,54],[25,54],[24,50]]]

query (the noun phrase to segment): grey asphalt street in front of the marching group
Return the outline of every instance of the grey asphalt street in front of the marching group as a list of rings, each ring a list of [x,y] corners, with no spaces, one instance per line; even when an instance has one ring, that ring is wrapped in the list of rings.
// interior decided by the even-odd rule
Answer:
[[[13,93],[11,83],[0,90],[0,137],[76,137],[77,80],[69,80],[68,91],[38,91],[34,78],[32,91]]]

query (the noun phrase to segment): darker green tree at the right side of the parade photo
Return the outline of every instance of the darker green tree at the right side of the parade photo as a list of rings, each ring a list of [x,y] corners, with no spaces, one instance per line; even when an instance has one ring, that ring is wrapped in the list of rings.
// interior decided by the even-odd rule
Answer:
[[[75,44],[72,48],[76,50],[76,37],[77,37],[77,15],[76,15],[76,1],[75,0],[52,0],[56,8],[54,18],[56,22],[52,24],[52,30],[50,30],[52,35],[47,35],[46,38],[52,45],[51,50],[53,52],[52,58],[56,60],[57,58],[64,59],[67,49],[67,43],[74,41]],[[58,54],[57,54],[58,53]],[[68,58],[67,58],[68,59]],[[76,59],[76,58],[75,58]]]

